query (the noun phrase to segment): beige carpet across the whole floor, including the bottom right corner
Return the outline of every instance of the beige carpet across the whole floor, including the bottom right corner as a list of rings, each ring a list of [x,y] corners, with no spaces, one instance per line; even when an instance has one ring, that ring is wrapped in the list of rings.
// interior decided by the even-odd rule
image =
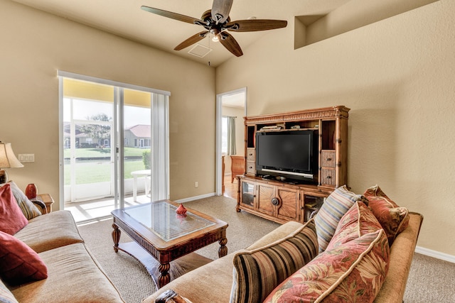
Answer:
[[[278,226],[245,211],[237,213],[235,200],[227,197],[210,197],[184,205],[228,222],[228,253],[249,246]],[[112,219],[86,224],[79,229],[87,246],[127,303],[141,302],[141,299],[155,291],[154,282],[141,263],[127,253],[114,253]],[[122,234],[120,241],[131,240]],[[213,243],[197,253],[215,259],[218,258],[218,247],[218,243]],[[405,303],[455,302],[453,285],[455,264],[416,254],[405,292]]]

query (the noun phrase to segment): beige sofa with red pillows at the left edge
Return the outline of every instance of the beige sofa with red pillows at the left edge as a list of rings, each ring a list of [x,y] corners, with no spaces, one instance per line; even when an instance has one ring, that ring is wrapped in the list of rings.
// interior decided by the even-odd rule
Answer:
[[[0,184],[0,302],[124,302],[69,211]]]

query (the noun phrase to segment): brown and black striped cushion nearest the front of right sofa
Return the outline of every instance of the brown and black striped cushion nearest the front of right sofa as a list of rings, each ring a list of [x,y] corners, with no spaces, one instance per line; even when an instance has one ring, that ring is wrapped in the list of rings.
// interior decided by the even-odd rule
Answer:
[[[262,302],[279,283],[318,253],[314,220],[294,233],[255,250],[240,250],[233,259],[230,302]]]

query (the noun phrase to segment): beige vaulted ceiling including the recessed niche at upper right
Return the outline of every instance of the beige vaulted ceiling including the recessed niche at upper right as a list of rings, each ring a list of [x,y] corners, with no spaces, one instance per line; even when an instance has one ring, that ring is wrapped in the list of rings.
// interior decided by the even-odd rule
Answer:
[[[212,9],[213,0],[11,1],[196,62],[210,62],[213,67],[235,58],[221,43],[211,39],[213,35],[182,50],[174,50],[204,28],[141,9],[141,6],[149,6],[200,19],[205,11]],[[289,36],[294,36],[294,48],[300,48],[434,1],[439,0],[234,0],[230,21],[249,18],[287,21],[287,28],[272,31],[291,31],[294,35]],[[247,53],[249,45],[270,31],[228,33],[237,40],[243,53]]]

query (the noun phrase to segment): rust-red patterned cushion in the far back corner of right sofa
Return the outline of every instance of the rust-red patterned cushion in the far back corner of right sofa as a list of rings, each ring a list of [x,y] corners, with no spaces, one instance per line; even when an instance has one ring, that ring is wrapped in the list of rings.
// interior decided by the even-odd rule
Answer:
[[[382,228],[384,228],[389,244],[392,245],[398,233],[407,228],[410,216],[405,207],[398,206],[382,192],[378,184],[365,190],[363,194],[368,199],[368,206],[373,210]]]

